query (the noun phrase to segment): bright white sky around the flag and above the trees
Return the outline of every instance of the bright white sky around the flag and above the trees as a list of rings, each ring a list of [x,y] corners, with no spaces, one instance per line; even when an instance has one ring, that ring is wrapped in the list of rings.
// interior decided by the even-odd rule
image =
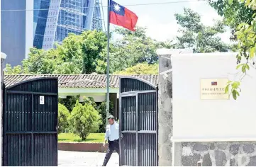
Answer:
[[[107,6],[107,1],[103,1],[103,6]],[[218,13],[208,5],[207,1],[194,1],[154,4],[145,6],[128,6],[129,4],[150,4],[162,2],[177,2],[184,0],[114,0],[116,3],[125,6],[138,16],[137,25],[148,28],[147,34],[156,40],[172,40],[177,35],[178,25],[174,18],[174,13],[183,13],[183,8],[191,8],[201,15],[201,21],[204,25],[213,25],[213,19],[221,19]],[[107,8],[104,8],[106,23]],[[111,25],[111,29],[114,25]],[[229,42],[229,34],[224,33],[221,38],[224,42]]]

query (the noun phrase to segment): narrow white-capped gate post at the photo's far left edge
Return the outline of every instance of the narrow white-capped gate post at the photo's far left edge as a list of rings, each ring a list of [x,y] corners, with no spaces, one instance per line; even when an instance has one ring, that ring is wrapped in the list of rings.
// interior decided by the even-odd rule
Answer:
[[[6,59],[6,54],[1,52],[1,111],[0,111],[0,119],[1,119],[1,166],[3,166],[3,98],[4,98],[4,59]]]

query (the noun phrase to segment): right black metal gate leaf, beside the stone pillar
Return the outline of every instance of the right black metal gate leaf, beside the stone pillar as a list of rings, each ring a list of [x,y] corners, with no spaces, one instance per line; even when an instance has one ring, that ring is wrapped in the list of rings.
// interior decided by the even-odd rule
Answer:
[[[158,166],[157,87],[133,77],[121,77],[121,166]]]

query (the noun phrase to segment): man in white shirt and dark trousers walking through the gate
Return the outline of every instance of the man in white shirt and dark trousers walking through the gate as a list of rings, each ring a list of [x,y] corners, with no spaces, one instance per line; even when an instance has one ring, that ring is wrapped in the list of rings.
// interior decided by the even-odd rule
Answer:
[[[108,141],[108,150],[102,166],[106,166],[113,151],[116,150],[119,155],[119,124],[114,120],[113,115],[108,117],[108,123],[109,125],[106,125],[105,141],[103,144],[105,146],[106,141]]]

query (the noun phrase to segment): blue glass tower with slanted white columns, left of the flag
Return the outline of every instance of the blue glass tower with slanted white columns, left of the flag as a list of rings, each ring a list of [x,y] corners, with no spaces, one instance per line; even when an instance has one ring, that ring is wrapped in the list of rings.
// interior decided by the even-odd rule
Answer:
[[[34,0],[34,47],[48,50],[68,33],[102,30],[100,5],[99,0]]]

